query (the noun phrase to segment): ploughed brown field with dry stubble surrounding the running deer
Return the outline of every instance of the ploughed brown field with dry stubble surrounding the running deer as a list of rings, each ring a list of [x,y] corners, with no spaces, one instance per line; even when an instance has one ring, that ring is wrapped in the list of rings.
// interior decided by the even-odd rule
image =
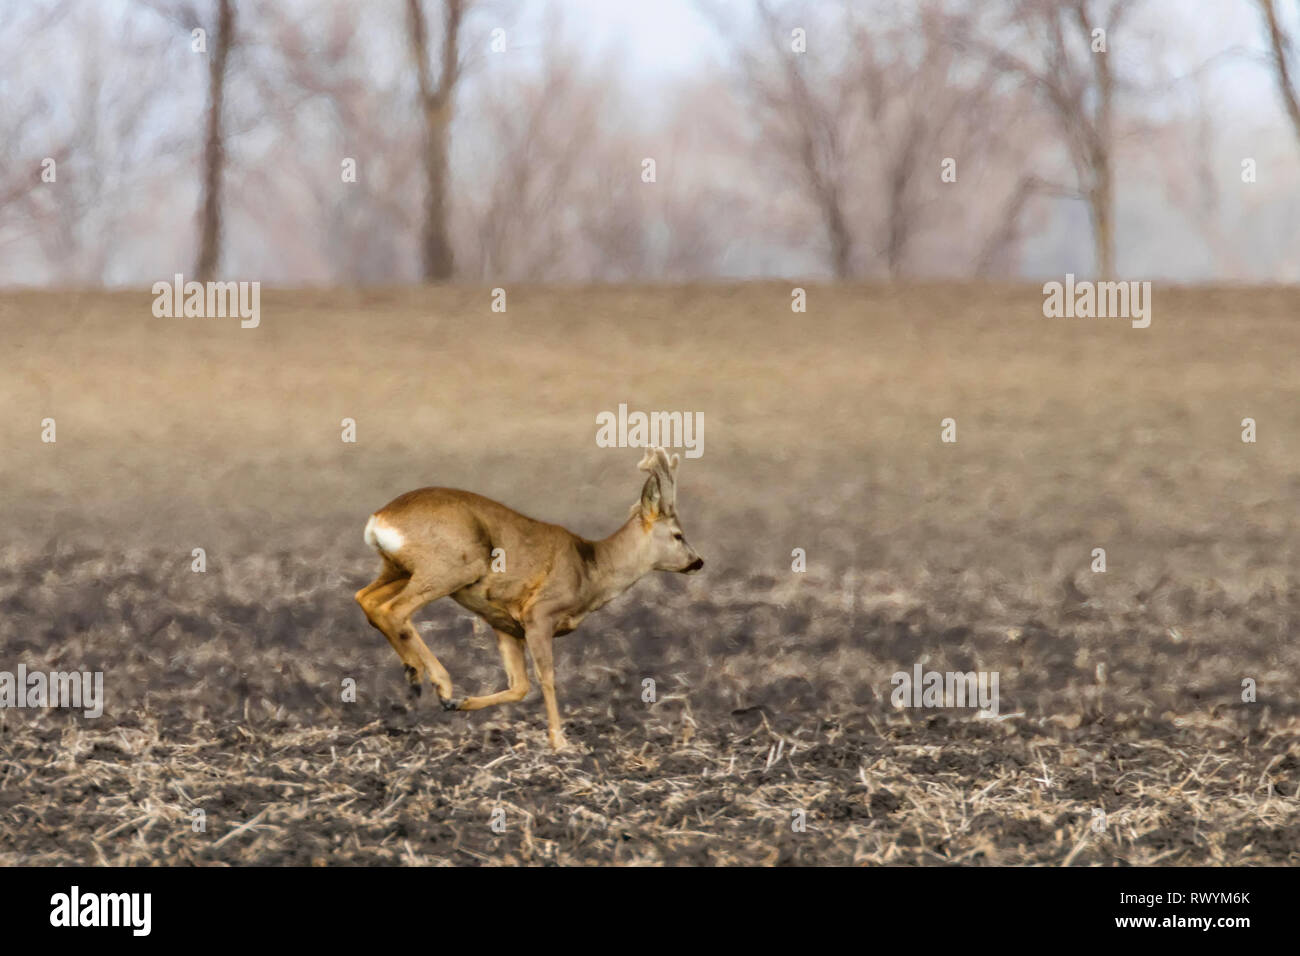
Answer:
[[[0,670],[108,692],[0,711],[0,861],[1296,861],[1300,293],[1157,289],[1147,330],[1023,287],[510,297],[268,293],[257,330],[0,297]],[[558,643],[573,754],[536,689],[408,708],[350,600],[365,515],[437,483],[606,533],[637,490],[594,444],[619,402],[705,412],[706,572]],[[443,604],[430,646],[497,689]],[[894,710],[916,662],[997,671],[1004,719]]]

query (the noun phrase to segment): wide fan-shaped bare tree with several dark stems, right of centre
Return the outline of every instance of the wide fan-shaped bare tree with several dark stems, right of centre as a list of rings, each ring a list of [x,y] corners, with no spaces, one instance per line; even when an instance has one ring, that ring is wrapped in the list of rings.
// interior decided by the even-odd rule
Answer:
[[[779,13],[762,0],[753,35],[732,12],[705,9],[734,52],[758,146],[815,211],[831,272],[906,274],[918,239],[952,221],[957,194],[939,185],[940,159],[976,169],[998,138],[988,117],[1015,99],[996,85],[997,69],[958,43],[966,14],[945,0],[800,3]],[[790,46],[798,31],[805,52]]]

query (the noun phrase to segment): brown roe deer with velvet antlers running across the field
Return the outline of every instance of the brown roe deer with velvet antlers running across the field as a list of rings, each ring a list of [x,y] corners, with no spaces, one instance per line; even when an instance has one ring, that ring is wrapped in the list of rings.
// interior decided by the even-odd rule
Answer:
[[[356,592],[356,602],[398,652],[412,693],[429,678],[446,710],[520,701],[529,689],[526,645],[542,685],[551,747],[563,749],[551,640],[651,571],[689,574],[705,566],[677,523],[679,464],[677,455],[647,450],[637,466],[650,472],[641,501],[602,541],[451,488],[407,492],[370,515],[365,542],[384,566]],[[411,623],[412,614],[439,597],[473,611],[497,632],[507,689],[452,697],[451,676]]]

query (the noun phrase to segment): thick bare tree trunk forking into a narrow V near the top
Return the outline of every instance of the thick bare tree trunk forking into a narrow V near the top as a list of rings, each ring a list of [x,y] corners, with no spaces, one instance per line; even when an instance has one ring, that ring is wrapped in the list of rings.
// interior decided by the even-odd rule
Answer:
[[[420,268],[425,280],[451,278],[455,259],[447,228],[451,185],[448,146],[456,82],[460,79],[460,30],[467,0],[442,0],[442,52],[438,79],[429,64],[429,30],[421,0],[407,0],[407,34],[424,120],[424,226]]]

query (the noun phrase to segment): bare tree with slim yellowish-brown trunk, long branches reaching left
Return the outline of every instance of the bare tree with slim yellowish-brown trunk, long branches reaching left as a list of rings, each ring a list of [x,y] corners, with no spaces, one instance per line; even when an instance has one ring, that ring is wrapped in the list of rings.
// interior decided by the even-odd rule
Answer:
[[[1010,0],[992,33],[971,42],[994,68],[1027,83],[1046,104],[1088,203],[1096,268],[1115,271],[1115,94],[1109,39],[1138,0]],[[1065,187],[1058,187],[1065,191]]]

